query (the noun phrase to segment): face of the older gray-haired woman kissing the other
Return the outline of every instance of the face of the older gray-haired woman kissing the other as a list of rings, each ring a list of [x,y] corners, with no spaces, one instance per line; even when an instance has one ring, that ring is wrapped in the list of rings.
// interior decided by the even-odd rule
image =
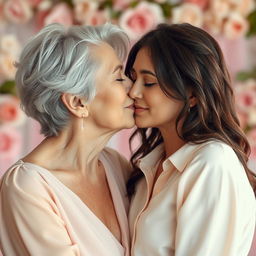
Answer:
[[[120,130],[134,126],[133,100],[128,96],[131,81],[123,74],[123,65],[113,48],[104,43],[93,46],[99,63],[96,72],[96,96],[89,104],[89,115],[97,126]]]

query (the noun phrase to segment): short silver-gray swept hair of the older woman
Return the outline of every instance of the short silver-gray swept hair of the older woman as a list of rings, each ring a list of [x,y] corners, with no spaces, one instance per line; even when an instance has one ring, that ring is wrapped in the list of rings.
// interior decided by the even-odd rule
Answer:
[[[50,24],[24,47],[15,77],[25,113],[41,124],[41,133],[56,136],[70,120],[62,93],[96,94],[95,74],[99,63],[92,45],[108,43],[121,61],[127,56],[129,39],[117,26],[71,26]]]

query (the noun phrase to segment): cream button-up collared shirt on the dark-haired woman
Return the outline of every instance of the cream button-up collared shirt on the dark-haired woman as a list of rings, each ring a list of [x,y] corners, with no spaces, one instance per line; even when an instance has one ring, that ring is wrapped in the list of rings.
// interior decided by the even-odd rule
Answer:
[[[185,144],[163,162],[156,147],[139,162],[144,173],[129,213],[132,256],[247,256],[256,202],[234,151],[219,141]]]

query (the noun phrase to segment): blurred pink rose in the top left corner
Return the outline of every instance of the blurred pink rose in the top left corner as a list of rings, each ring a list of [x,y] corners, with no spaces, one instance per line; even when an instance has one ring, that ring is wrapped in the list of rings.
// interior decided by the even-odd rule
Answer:
[[[32,9],[27,1],[7,0],[4,3],[5,17],[13,23],[26,23],[32,18]]]

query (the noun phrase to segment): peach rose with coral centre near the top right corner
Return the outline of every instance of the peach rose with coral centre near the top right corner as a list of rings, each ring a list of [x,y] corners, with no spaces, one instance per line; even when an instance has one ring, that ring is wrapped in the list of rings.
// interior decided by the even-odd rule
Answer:
[[[239,13],[230,13],[224,23],[223,33],[229,39],[242,37],[248,31],[248,21]]]

